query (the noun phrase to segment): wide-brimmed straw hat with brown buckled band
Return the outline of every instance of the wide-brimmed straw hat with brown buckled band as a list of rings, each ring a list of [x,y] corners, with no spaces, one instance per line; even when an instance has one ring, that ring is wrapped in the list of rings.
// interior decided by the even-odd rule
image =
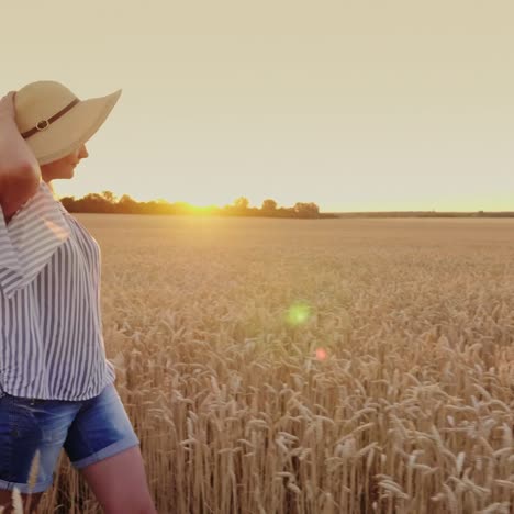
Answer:
[[[107,97],[79,100],[66,86],[40,80],[24,86],[14,97],[18,128],[45,165],[80,148],[100,128],[122,90]]]

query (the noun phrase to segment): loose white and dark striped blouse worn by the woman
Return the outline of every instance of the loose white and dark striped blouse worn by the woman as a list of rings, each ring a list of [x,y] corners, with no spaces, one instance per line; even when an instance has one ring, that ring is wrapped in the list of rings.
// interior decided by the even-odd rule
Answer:
[[[115,379],[97,241],[42,180],[5,224],[0,206],[0,398],[88,400]]]

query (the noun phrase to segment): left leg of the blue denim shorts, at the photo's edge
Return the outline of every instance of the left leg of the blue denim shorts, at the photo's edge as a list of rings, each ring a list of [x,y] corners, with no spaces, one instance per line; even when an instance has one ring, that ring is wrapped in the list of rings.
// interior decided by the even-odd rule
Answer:
[[[0,489],[22,493],[46,491],[81,402],[32,400],[5,394],[0,398]],[[38,452],[34,487],[30,471]]]

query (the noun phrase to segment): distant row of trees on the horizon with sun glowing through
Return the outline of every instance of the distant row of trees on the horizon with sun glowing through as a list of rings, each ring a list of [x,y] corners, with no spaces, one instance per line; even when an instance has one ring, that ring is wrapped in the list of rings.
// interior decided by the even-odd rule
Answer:
[[[279,208],[272,199],[262,202],[260,209],[250,208],[245,197],[237,198],[233,204],[222,208],[210,205],[198,208],[186,202],[169,203],[158,199],[149,202],[137,202],[128,194],[119,200],[112,191],[86,194],[78,200],[75,197],[60,199],[63,206],[71,213],[94,212],[109,214],[211,214],[222,216],[261,216],[261,217],[337,217],[335,214],[322,214],[315,203],[297,202],[292,208]]]

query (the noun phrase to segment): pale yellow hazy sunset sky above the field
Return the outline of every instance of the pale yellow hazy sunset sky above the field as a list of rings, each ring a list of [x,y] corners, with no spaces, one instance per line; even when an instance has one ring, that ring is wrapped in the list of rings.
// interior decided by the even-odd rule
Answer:
[[[46,0],[1,16],[1,96],[123,90],[60,198],[514,211],[512,0]]]

